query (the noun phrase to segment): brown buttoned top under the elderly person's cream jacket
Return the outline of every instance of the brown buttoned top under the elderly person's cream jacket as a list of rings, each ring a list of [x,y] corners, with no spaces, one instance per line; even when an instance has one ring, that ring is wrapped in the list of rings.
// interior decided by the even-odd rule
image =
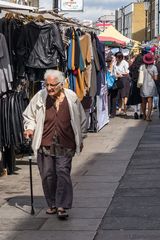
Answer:
[[[63,147],[76,148],[67,98],[64,98],[57,111],[54,100],[48,96],[41,146],[51,146],[55,134]]]

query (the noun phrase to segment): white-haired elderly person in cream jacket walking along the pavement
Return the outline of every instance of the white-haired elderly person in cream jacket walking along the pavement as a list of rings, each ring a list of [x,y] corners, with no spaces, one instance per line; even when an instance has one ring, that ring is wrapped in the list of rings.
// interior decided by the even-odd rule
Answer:
[[[58,70],[47,70],[45,89],[40,90],[23,113],[24,136],[32,138],[37,156],[47,214],[67,218],[72,207],[70,177],[72,158],[83,148],[86,116],[77,95],[64,88],[65,78]]]

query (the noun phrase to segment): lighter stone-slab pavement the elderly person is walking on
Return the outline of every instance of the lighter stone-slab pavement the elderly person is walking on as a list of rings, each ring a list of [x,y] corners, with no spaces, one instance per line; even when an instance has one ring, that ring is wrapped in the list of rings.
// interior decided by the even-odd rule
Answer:
[[[0,240],[93,240],[98,230],[98,240],[119,239],[104,237],[103,224],[107,224],[108,217],[105,213],[112,207],[121,179],[121,194],[125,195],[123,180],[126,184],[132,183],[128,182],[126,175],[122,177],[147,125],[148,123],[142,120],[117,117],[100,132],[88,134],[82,154],[73,160],[74,202],[68,221],[59,221],[56,216],[45,214],[46,203],[36,164],[33,165],[36,214],[30,215],[28,159],[17,160],[16,174],[0,178]],[[146,134],[150,133],[145,132]],[[157,144],[156,138],[154,143]],[[148,153],[150,142],[149,145],[145,144],[147,143],[141,143],[141,148]],[[115,196],[118,191],[119,188]],[[125,203],[123,200],[121,202],[122,210]],[[114,212],[114,209],[112,211]],[[112,211],[110,210],[111,214]],[[119,230],[118,227],[116,229]]]

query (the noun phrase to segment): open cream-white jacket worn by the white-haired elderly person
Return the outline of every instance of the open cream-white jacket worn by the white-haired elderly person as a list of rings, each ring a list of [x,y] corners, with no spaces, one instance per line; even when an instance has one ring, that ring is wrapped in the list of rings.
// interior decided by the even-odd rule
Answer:
[[[64,89],[68,101],[71,126],[75,135],[76,153],[80,153],[80,146],[86,136],[86,115],[77,95],[70,89]],[[32,139],[32,149],[35,156],[42,141],[44,128],[47,90],[40,90],[30,101],[23,113],[24,129],[34,131]]]

